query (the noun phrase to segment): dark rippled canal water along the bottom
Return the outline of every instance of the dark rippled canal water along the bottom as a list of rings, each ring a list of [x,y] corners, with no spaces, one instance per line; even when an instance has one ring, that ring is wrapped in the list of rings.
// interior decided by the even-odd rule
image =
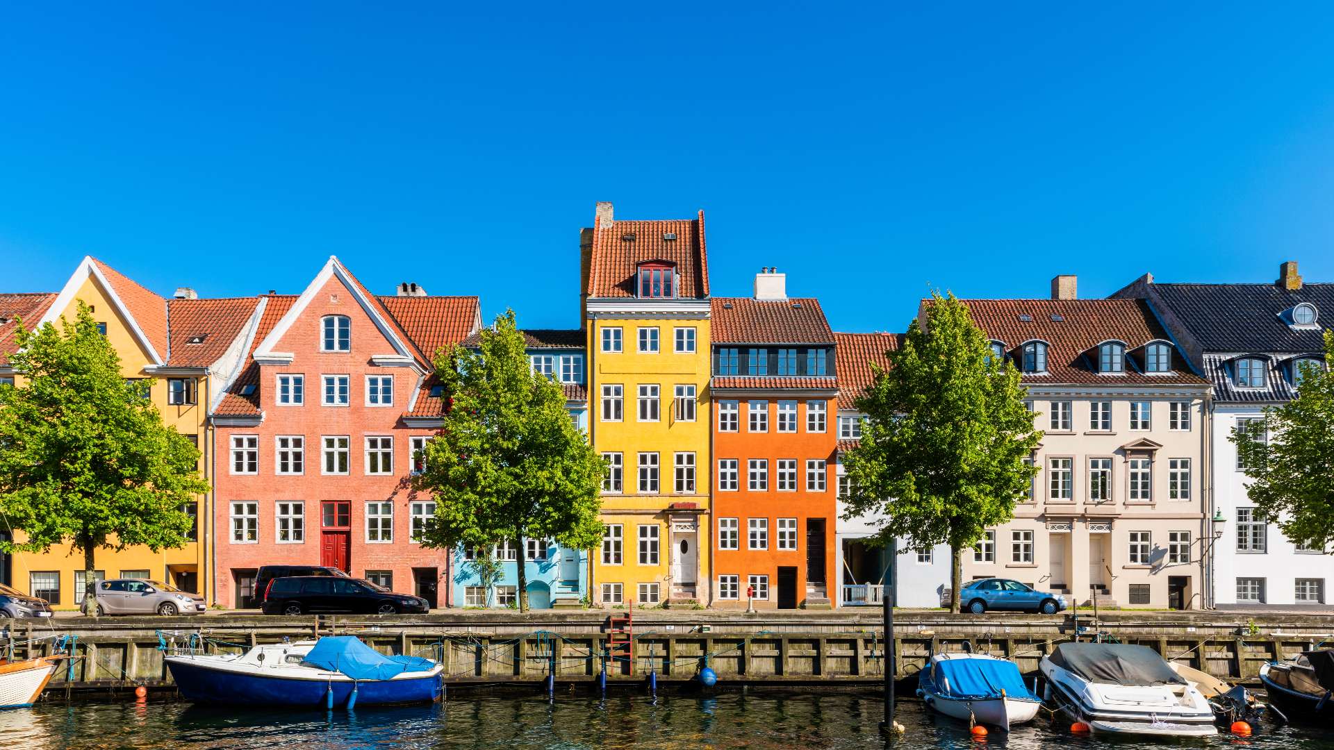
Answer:
[[[1063,722],[1041,721],[984,743],[968,727],[938,717],[916,701],[899,705],[907,733],[880,737],[880,699],[874,693],[720,693],[716,697],[456,694],[436,706],[347,711],[277,713],[200,709],[167,698],[116,703],[43,703],[0,711],[0,747],[470,747],[490,749],[688,749],[815,750],[919,747],[1030,749],[1066,745],[1077,750],[1154,746],[1075,738]],[[1334,727],[1265,726],[1254,737],[1226,735],[1174,746],[1334,749]]]

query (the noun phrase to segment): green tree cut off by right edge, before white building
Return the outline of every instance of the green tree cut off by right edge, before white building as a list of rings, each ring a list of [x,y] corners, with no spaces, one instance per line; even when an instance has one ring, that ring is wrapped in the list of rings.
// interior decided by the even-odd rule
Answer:
[[[1298,363],[1297,398],[1265,410],[1259,424],[1233,430],[1247,496],[1283,535],[1315,548],[1334,544],[1334,332],[1325,331],[1325,367]]]

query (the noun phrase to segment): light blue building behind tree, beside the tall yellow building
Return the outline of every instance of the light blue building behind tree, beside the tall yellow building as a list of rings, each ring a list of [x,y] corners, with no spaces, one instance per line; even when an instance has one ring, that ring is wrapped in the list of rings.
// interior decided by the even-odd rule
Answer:
[[[570,418],[588,434],[588,386],[586,378],[584,332],[580,330],[523,331],[527,339],[528,363],[534,372],[542,372],[559,382],[566,391]],[[464,346],[475,340],[464,342]],[[578,607],[588,591],[588,551],[567,550],[547,539],[530,539],[523,554],[512,543],[494,550],[500,560],[502,574],[491,591],[482,587],[472,565],[474,550],[455,551],[454,586],[451,601],[464,607],[506,607],[519,601],[519,565],[524,566],[528,582],[528,606],[535,610],[551,607]],[[520,559],[522,558],[522,559]]]

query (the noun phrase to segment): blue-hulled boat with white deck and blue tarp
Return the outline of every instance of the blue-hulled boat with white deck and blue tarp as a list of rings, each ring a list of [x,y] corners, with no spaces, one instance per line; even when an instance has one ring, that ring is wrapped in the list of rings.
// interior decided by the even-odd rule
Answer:
[[[165,658],[181,695],[195,703],[347,707],[427,703],[443,693],[443,665],[386,657],[351,635],[253,646],[244,654]]]

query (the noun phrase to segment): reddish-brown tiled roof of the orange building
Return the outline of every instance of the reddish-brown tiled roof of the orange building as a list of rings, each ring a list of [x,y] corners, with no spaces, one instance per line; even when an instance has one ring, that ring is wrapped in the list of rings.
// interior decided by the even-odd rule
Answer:
[[[826,344],[834,342],[820,302],[814,298],[755,300],[714,298],[710,331],[714,343]]]

